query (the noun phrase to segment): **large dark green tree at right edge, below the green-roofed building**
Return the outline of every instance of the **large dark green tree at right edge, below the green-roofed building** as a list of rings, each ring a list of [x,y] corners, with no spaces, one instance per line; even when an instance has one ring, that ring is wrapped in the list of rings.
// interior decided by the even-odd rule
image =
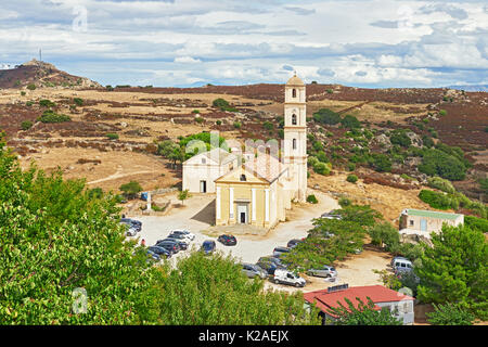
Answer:
[[[432,234],[433,247],[421,256],[414,271],[421,280],[419,299],[425,303],[465,303],[480,319],[488,319],[488,243],[481,231],[448,227]]]

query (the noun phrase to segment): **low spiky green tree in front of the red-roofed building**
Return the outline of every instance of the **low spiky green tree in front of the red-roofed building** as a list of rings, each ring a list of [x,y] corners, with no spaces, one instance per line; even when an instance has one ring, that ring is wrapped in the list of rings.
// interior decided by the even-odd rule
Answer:
[[[386,309],[375,310],[374,303],[367,297],[368,304],[364,304],[359,297],[356,298],[358,305],[355,306],[351,300],[345,298],[347,307],[343,303],[337,301],[338,307],[330,308],[329,312],[336,316],[337,325],[401,325],[402,322],[395,318],[393,313]]]

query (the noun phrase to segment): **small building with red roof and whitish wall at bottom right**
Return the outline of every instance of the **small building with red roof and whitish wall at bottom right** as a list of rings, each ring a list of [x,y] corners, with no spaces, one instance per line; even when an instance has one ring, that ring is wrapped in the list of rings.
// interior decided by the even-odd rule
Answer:
[[[331,308],[339,307],[339,303],[346,308],[349,307],[346,298],[358,308],[359,301],[357,298],[368,304],[368,297],[373,300],[375,310],[387,308],[390,312],[395,312],[396,318],[403,321],[403,325],[413,324],[415,298],[383,285],[354,286],[338,291],[321,290],[304,294],[304,298],[309,305],[316,305],[320,309],[319,314],[322,317],[322,324],[325,324],[326,320],[334,321],[337,319],[334,313],[329,311]]]

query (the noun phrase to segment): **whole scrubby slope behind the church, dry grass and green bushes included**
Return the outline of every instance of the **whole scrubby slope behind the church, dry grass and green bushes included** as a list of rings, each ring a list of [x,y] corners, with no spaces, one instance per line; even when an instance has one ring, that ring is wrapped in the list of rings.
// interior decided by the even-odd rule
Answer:
[[[25,167],[33,159],[48,171],[60,166],[66,177],[87,178],[90,187],[104,190],[116,191],[130,180],[138,180],[145,190],[167,188],[181,182],[181,169],[157,155],[157,143],[210,130],[242,143],[281,139],[283,90],[283,85],[267,83],[40,87],[23,89],[23,93],[7,89],[0,95],[0,129]],[[235,110],[213,106],[217,98]],[[46,113],[61,115],[61,121],[39,121]],[[321,113],[326,119],[317,116]],[[338,120],[329,121],[331,115]],[[332,164],[330,175],[323,176],[310,163],[309,185],[372,204],[395,220],[403,208],[428,206],[418,195],[427,187],[429,175],[419,167],[423,155],[444,151],[448,159],[462,162],[462,175],[455,172],[452,180],[455,189],[486,202],[486,189],[479,183],[488,172],[486,115],[486,92],[308,85],[308,153]],[[358,125],[344,126],[346,116],[358,119]],[[115,136],[110,139],[107,133]],[[349,174],[358,176],[357,185],[345,181]]]

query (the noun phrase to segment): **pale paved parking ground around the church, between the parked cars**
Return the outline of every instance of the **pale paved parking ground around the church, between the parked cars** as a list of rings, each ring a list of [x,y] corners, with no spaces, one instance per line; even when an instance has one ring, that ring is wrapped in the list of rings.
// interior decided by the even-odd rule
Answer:
[[[217,237],[208,236],[202,232],[213,222],[214,196],[211,195],[195,195],[185,201],[184,206],[174,207],[167,216],[131,218],[142,221],[142,230],[137,237],[140,240],[144,239],[146,246],[154,245],[157,240],[165,239],[171,230],[185,229],[195,234],[195,240],[190,244],[189,249],[192,247],[200,248],[205,240],[214,240],[216,241],[217,250],[221,250],[223,254],[231,254],[242,262],[255,264],[260,257],[271,255],[274,247],[286,246],[291,239],[305,237],[307,231],[313,227],[313,218],[331,209],[339,208],[337,202],[332,197],[320,192],[313,193],[319,200],[317,205],[304,204],[294,206],[292,210],[287,211],[288,221],[281,222],[277,228],[262,236],[236,235],[237,244],[235,246],[224,246],[217,242]],[[178,204],[176,195],[168,195],[168,198]],[[171,262],[174,264],[176,259],[188,253],[189,250],[179,252],[170,259]],[[342,283],[349,283],[349,285],[380,284],[378,277],[371,269],[384,269],[388,262],[388,257],[365,250],[363,254],[355,255],[337,266],[339,275],[335,283],[330,283],[321,278],[305,277],[308,283],[301,291],[316,291]],[[288,292],[298,290],[269,281],[267,281],[266,287]]]

